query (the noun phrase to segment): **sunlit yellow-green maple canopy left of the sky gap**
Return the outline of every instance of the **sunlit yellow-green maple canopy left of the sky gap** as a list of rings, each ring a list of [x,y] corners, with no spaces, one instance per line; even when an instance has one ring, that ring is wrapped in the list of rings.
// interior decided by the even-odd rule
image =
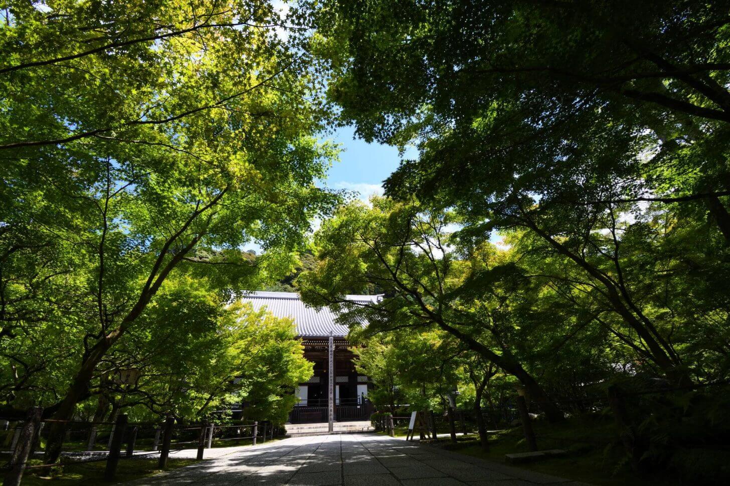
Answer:
[[[189,379],[207,381],[191,346],[226,327],[212,309],[283,277],[312,217],[337,201],[316,185],[335,155],[318,142],[321,80],[296,36],[277,34],[301,26],[266,1],[9,2],[5,14],[5,403],[38,390],[69,420],[105,373],[150,359],[169,332],[180,346],[148,378],[185,355]],[[250,242],[276,250],[254,262]],[[48,354],[26,362],[37,346]],[[288,365],[272,383],[291,386],[302,371]]]

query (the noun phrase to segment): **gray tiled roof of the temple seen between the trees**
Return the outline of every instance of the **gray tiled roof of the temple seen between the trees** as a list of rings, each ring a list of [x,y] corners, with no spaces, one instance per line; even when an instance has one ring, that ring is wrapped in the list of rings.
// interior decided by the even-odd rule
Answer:
[[[377,302],[381,296],[346,296],[348,301]],[[291,317],[296,332],[302,337],[347,336],[347,326],[334,322],[337,315],[327,307],[317,310],[307,306],[298,293],[291,292],[247,292],[242,301],[250,302],[254,310],[266,306],[276,317]]]

